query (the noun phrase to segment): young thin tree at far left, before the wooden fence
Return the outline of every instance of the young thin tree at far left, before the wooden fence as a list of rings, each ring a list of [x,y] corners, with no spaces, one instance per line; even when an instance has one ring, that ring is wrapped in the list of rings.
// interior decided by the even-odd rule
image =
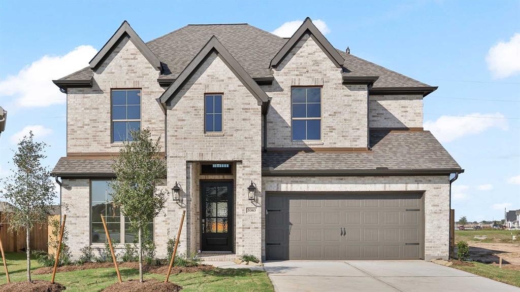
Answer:
[[[32,131],[18,143],[18,150],[12,158],[14,175],[7,178],[2,191],[7,202],[9,230],[25,228],[27,241],[27,281],[31,282],[31,230],[36,223],[47,220],[50,205],[56,194],[50,172],[42,165],[47,156],[44,142],[35,142]]]

